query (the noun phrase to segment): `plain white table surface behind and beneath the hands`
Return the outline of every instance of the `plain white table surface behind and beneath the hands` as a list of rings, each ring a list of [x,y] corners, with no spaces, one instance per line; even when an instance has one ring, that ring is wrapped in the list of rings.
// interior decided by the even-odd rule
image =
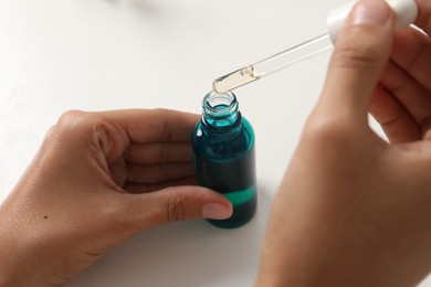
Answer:
[[[200,113],[213,78],[324,33],[326,13],[347,1],[0,0],[0,202],[65,110]],[[251,286],[272,199],[329,55],[236,91],[256,134],[250,224],[143,232],[66,286]]]

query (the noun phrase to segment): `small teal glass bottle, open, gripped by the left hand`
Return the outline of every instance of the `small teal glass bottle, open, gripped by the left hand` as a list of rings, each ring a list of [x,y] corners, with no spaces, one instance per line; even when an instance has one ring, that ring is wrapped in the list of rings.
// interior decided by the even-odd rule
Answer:
[[[209,93],[202,107],[192,134],[198,183],[222,193],[233,205],[230,219],[209,222],[222,228],[239,227],[256,211],[254,131],[231,92]]]

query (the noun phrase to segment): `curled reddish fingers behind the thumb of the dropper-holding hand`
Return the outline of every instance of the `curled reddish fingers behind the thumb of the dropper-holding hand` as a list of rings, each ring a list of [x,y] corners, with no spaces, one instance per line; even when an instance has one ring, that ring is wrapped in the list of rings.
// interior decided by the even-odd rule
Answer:
[[[414,28],[395,34],[386,64],[370,104],[371,115],[393,144],[420,140],[431,128],[431,2],[417,0]]]

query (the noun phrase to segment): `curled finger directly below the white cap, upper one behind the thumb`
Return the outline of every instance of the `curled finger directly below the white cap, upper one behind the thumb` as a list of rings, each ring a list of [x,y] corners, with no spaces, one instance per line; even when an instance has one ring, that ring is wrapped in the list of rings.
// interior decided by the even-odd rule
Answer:
[[[413,28],[396,34],[391,59],[431,91],[431,40]]]

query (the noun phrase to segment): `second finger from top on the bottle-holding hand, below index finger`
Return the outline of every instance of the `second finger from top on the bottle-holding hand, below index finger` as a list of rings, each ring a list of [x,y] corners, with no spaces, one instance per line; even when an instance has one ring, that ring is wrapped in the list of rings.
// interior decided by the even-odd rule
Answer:
[[[189,141],[132,144],[124,157],[129,162],[146,164],[193,160]]]

